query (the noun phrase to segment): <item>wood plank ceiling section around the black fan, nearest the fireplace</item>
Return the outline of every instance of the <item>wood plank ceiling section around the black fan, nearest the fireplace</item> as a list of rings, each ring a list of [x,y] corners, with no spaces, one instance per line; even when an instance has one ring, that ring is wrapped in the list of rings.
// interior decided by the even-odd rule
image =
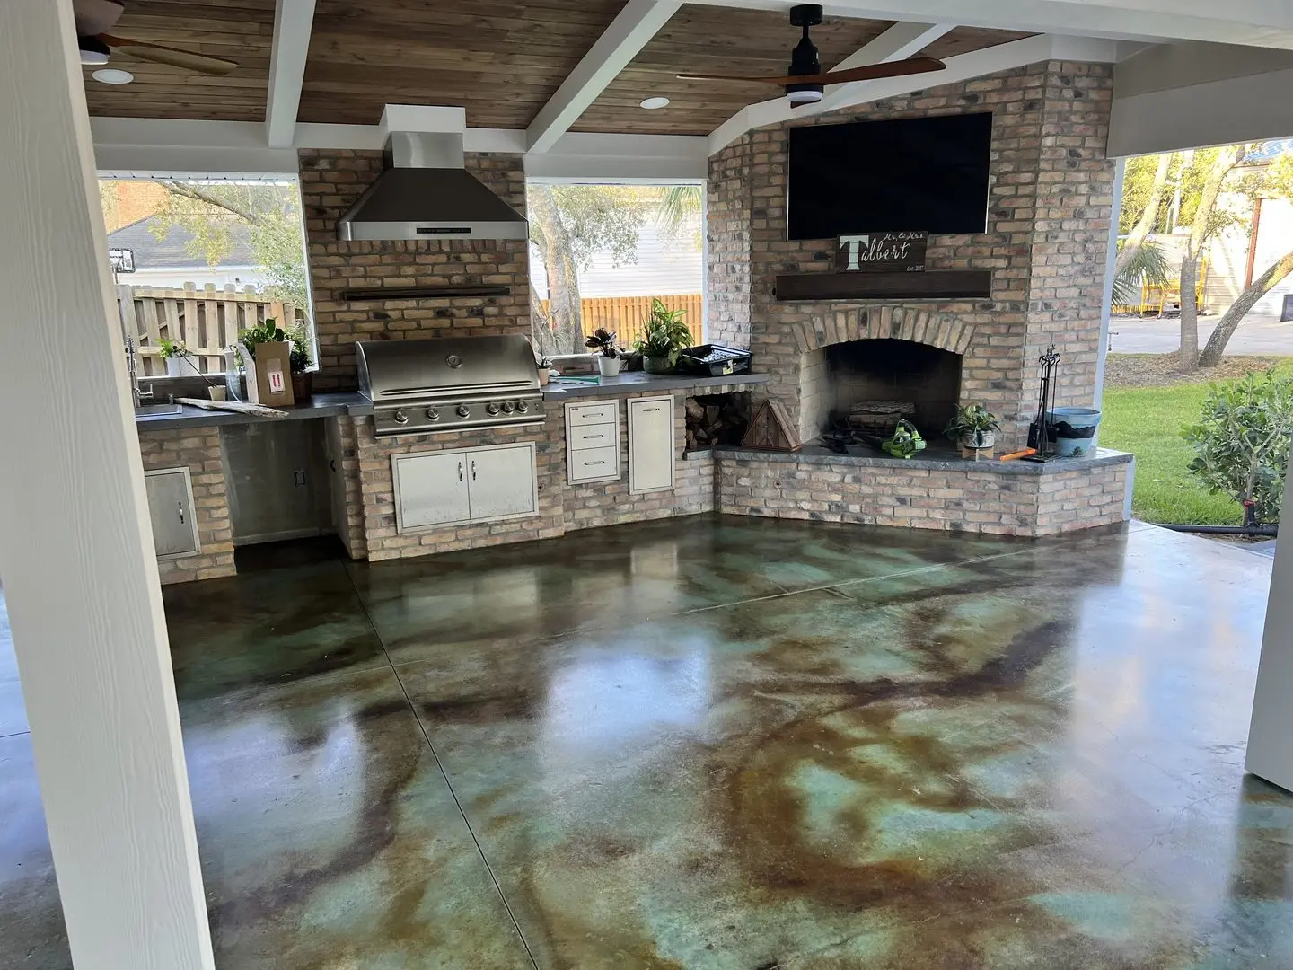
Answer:
[[[891,21],[828,17],[812,28],[822,67],[839,63],[890,26]],[[952,57],[1025,36],[957,27],[922,53]],[[687,4],[588,106],[572,131],[709,135],[746,105],[777,97],[780,88],[687,81],[675,75],[679,71],[784,74],[796,43],[799,28],[790,26],[785,12]],[[640,107],[644,98],[654,96],[667,97],[668,107],[654,111]]]

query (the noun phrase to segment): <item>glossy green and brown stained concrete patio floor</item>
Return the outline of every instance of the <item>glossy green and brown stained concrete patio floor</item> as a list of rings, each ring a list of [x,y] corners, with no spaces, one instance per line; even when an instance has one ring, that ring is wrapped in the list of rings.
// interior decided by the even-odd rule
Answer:
[[[723,517],[275,555],[166,594],[221,970],[1293,966],[1293,797],[1241,767],[1267,557]],[[0,966],[67,967],[6,643],[0,736]]]

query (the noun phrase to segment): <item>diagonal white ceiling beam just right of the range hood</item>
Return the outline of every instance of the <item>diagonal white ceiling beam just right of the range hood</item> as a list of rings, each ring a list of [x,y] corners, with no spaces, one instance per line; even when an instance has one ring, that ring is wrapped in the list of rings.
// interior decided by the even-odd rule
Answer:
[[[526,129],[530,151],[547,151],[665,26],[680,0],[628,0]]]

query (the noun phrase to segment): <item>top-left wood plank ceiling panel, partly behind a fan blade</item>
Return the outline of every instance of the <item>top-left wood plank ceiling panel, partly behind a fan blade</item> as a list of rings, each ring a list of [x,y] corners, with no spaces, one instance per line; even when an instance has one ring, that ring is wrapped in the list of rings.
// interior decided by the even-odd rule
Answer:
[[[134,83],[102,84],[91,78],[97,69],[83,67],[92,115],[265,120],[274,0],[125,0],[109,32],[234,61],[238,70],[209,78],[112,54],[107,66],[129,71]]]

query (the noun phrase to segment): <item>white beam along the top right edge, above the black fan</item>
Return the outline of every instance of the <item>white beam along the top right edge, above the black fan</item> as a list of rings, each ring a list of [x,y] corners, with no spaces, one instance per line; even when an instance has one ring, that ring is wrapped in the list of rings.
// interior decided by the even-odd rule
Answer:
[[[784,0],[689,0],[710,6],[785,10]],[[1293,49],[1293,4],[1271,0],[829,0],[828,16],[954,21],[967,27],[1142,40],[1209,40]]]

